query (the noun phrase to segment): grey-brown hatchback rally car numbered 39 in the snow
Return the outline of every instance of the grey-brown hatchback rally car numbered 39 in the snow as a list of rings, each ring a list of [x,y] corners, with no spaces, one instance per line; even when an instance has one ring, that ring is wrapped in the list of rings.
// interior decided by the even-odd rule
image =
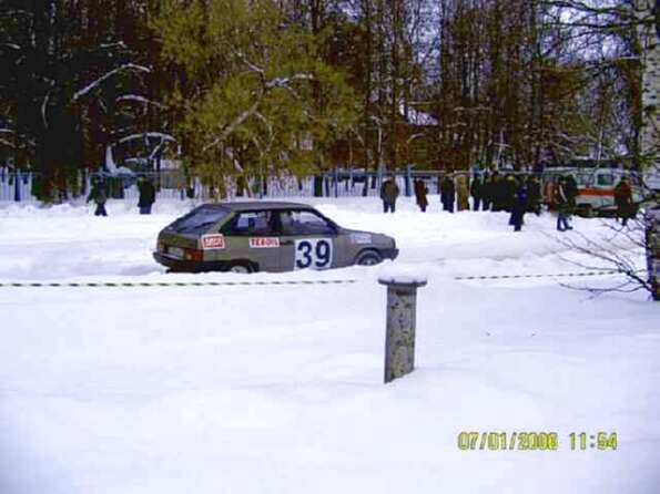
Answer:
[[[153,253],[173,271],[290,271],[375,265],[394,238],[343,228],[296,203],[204,204],[166,226]]]

